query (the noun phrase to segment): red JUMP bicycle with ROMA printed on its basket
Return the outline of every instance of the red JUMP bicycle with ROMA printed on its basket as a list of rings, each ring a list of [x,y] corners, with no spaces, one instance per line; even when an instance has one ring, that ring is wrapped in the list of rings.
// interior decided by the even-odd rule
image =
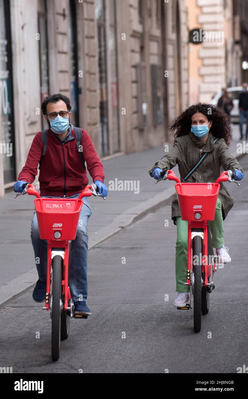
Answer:
[[[35,209],[42,240],[47,240],[47,292],[43,309],[50,310],[52,319],[52,359],[59,359],[60,340],[69,335],[70,318],[87,318],[74,314],[74,304],[68,286],[70,270],[71,240],[76,237],[78,219],[83,206],[83,197],[101,196],[95,184],[86,186],[78,198],[41,198],[30,183],[23,184],[19,195],[34,195]],[[104,197],[102,197],[105,199]],[[51,267],[53,269],[52,292],[50,293]]]

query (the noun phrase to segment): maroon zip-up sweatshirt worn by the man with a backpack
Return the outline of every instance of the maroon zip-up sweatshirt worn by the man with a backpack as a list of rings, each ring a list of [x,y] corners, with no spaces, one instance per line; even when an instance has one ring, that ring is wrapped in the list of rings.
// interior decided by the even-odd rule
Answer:
[[[49,129],[47,150],[43,156],[39,173],[41,196],[71,196],[82,192],[89,183],[87,172],[84,170],[78,152],[72,125],[71,132],[73,139],[61,144]],[[84,129],[82,129],[81,145],[84,160],[93,182],[96,180],[103,182],[105,175],[102,162],[98,158],[90,136]],[[25,166],[23,166],[18,180],[33,183],[42,152],[41,132],[38,132],[33,139]]]

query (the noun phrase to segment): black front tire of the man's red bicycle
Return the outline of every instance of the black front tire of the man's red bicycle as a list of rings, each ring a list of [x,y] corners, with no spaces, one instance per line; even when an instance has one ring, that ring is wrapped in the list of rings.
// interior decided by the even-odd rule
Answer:
[[[61,336],[61,279],[62,279],[62,257],[55,255],[53,266],[53,302],[52,302],[52,359],[59,359],[60,336]]]

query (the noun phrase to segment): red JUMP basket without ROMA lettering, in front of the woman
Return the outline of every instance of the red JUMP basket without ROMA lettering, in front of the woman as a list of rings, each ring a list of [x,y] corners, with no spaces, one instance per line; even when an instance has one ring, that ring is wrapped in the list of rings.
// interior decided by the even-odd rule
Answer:
[[[197,221],[195,213],[200,213],[199,221],[215,218],[219,183],[177,183],[175,187],[182,220]]]

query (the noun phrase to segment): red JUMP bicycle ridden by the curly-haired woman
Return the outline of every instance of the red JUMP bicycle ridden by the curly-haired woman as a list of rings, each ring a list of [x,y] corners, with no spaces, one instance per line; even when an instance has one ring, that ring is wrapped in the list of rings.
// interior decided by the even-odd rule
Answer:
[[[232,180],[232,172],[225,171],[215,183],[180,183],[172,170],[161,173],[161,179],[176,182],[176,194],[182,220],[188,221],[187,272],[185,285],[189,285],[189,304],[180,310],[194,311],[194,330],[201,330],[201,313],[209,311],[209,294],[215,288],[213,274],[216,271],[211,233],[207,222],[215,217],[215,207],[220,182]],[[192,255],[191,257],[191,249]],[[186,269],[185,269],[186,270]],[[193,296],[193,298],[192,298]]]

